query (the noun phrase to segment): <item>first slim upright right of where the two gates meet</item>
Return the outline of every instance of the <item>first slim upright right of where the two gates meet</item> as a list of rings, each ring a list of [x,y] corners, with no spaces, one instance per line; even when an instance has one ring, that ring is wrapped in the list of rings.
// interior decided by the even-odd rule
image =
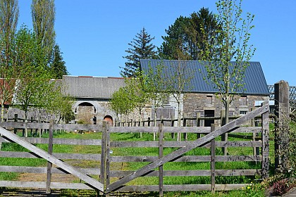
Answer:
[[[164,156],[164,132],[163,124],[159,124],[159,159]],[[159,196],[164,196],[164,166],[159,166]]]

